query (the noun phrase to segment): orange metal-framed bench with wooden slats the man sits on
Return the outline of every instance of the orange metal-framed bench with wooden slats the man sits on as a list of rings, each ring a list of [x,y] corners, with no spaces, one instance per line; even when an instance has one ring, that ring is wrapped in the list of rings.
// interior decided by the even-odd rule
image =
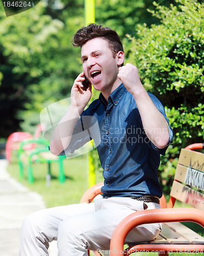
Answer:
[[[204,143],[192,144],[181,150],[179,163],[170,193],[168,207],[164,197],[161,209],[142,210],[124,218],[116,227],[110,244],[110,255],[130,255],[134,252],[157,252],[159,255],[204,252],[204,238],[180,222],[195,222],[204,227],[204,154],[193,151],[203,149]],[[90,203],[100,194],[101,183],[87,190],[81,202]],[[175,200],[191,208],[173,208]],[[125,245],[127,234],[136,226],[162,222],[162,231],[152,241]],[[102,255],[94,251],[95,255]],[[106,254],[107,255],[107,254]]]

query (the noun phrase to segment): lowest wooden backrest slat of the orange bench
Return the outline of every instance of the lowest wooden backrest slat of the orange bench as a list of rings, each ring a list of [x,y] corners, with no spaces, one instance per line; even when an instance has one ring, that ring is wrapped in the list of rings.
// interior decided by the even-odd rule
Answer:
[[[204,194],[199,193],[180,182],[173,182],[170,195],[196,209],[204,210]]]

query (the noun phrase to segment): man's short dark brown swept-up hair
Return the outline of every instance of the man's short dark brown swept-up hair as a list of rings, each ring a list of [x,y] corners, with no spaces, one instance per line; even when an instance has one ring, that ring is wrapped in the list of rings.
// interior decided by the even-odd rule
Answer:
[[[94,23],[89,24],[87,27],[81,28],[74,34],[72,44],[74,47],[81,47],[86,44],[87,41],[101,37],[108,41],[109,47],[113,52],[113,56],[123,50],[122,42],[119,35],[115,30],[108,27],[103,27],[102,25],[96,25]]]

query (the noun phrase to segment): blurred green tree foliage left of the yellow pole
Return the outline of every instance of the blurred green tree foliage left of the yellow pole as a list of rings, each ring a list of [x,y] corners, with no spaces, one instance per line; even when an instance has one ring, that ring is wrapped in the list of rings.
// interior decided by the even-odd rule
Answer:
[[[2,137],[19,130],[19,122],[28,116],[30,126],[39,123],[42,108],[68,97],[73,77],[79,73],[75,55],[80,49],[72,48],[70,42],[76,27],[83,26],[83,17],[66,14],[61,20],[61,12],[53,17],[49,5],[41,1],[11,17],[0,11]]]

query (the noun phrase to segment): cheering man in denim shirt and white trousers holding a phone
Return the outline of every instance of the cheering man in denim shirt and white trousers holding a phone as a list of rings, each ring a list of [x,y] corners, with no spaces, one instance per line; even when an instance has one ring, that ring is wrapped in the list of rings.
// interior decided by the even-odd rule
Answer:
[[[70,154],[85,144],[87,138],[74,135],[80,134],[80,124],[85,129],[85,117],[94,117],[100,130],[97,151],[104,169],[103,195],[94,203],[54,207],[30,215],[21,228],[20,256],[48,255],[48,243],[53,240],[58,240],[60,256],[87,255],[87,249],[107,250],[124,217],[160,208],[157,169],[160,154],[165,154],[172,141],[161,102],[145,91],[134,65],[123,66],[123,48],[115,31],[90,24],[74,35],[73,45],[81,47],[83,72],[73,83],[71,105],[54,131],[50,151]],[[89,80],[87,90],[82,84],[84,75]],[[91,84],[101,93],[84,111],[91,98]],[[152,240],[160,231],[160,224],[140,225],[126,242]]]

